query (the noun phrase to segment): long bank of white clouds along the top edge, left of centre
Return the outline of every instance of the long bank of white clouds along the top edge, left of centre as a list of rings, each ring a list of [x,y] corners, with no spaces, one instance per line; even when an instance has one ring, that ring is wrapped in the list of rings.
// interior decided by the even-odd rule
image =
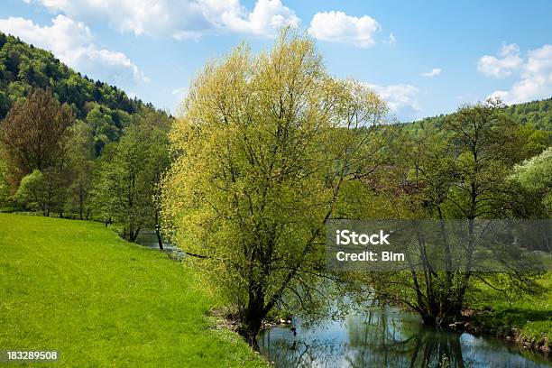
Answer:
[[[107,18],[121,32],[198,39],[207,32],[273,36],[299,17],[281,0],[258,0],[252,12],[239,0],[24,0],[76,19]]]

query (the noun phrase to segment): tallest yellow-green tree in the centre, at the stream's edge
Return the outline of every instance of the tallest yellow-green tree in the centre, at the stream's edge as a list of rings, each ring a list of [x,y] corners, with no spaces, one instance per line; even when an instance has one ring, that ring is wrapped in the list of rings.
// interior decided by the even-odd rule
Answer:
[[[253,347],[273,308],[317,307],[325,222],[377,151],[384,110],[363,85],[331,78],[313,41],[288,30],[270,52],[238,47],[192,84],[170,136],[179,157],[163,217]]]

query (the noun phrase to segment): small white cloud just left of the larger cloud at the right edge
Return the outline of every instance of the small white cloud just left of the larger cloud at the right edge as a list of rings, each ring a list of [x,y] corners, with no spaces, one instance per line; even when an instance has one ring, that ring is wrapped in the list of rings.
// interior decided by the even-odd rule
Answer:
[[[477,71],[487,77],[504,78],[510,77],[513,70],[520,69],[523,60],[520,58],[520,48],[517,44],[502,44],[498,52],[499,58],[491,55],[484,55],[477,62]]]

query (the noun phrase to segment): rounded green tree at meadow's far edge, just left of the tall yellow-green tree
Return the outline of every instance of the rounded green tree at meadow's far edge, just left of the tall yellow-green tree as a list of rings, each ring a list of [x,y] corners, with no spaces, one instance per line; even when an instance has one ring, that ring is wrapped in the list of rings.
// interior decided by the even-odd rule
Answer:
[[[158,184],[170,165],[170,119],[143,112],[135,120],[118,143],[106,146],[97,161],[92,189],[99,216],[113,221],[131,241],[143,227],[158,225]]]

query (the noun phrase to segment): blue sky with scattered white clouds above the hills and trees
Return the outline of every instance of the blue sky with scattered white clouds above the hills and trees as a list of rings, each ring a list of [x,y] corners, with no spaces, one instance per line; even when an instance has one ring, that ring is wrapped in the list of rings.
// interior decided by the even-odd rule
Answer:
[[[327,69],[365,82],[402,121],[501,97],[552,96],[550,1],[4,0],[0,30],[174,111],[206,60],[285,24]]]

